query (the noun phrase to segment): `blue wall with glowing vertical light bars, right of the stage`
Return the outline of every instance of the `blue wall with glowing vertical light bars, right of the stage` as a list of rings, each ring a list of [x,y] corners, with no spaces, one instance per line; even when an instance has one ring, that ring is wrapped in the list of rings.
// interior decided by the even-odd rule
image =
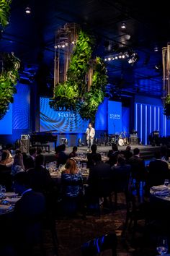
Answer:
[[[142,144],[148,144],[148,136],[159,131],[160,136],[169,135],[169,121],[163,114],[161,100],[148,97],[135,98],[135,129]]]

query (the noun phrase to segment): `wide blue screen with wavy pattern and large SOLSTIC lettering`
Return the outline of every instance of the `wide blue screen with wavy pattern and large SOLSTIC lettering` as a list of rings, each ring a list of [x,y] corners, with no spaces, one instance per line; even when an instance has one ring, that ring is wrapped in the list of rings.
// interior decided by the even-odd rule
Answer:
[[[55,111],[49,106],[49,98],[40,97],[40,132],[84,133],[89,121],[81,119],[73,111]]]

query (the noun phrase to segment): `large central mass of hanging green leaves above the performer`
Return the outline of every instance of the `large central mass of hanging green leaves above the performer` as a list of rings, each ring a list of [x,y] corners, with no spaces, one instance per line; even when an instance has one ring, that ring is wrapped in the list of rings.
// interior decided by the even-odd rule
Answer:
[[[104,61],[91,60],[94,39],[79,31],[67,71],[67,80],[54,86],[50,107],[77,111],[82,119],[94,121],[97,108],[104,100],[107,84]],[[91,81],[90,81],[91,80]]]

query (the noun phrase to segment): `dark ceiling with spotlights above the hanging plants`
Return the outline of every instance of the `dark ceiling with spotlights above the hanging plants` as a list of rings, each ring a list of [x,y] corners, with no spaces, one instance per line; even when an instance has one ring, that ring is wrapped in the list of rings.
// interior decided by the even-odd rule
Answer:
[[[27,6],[30,15],[24,12]],[[96,53],[103,59],[127,49],[138,54],[133,65],[127,59],[106,61],[109,88],[161,97],[161,48],[170,40],[166,1],[13,0],[10,23],[1,34],[1,51],[14,51],[27,69],[39,69],[43,84],[45,76],[53,77],[55,33],[69,22],[94,33]]]

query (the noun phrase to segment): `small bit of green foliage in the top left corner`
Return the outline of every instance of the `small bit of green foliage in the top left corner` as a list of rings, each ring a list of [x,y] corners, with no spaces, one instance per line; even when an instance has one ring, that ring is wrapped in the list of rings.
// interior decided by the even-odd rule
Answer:
[[[0,25],[2,28],[9,24],[9,11],[12,0],[0,0]]]

